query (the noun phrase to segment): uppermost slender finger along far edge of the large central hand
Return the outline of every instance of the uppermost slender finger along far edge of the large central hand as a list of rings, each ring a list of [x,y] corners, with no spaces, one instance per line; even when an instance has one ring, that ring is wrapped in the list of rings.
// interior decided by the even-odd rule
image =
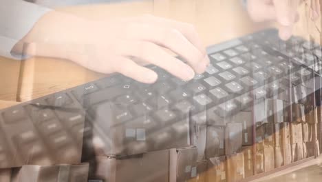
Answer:
[[[175,21],[171,19],[164,19],[162,17],[154,17],[154,16],[143,16],[136,17],[136,21],[140,23],[148,23],[155,26],[174,28],[180,31],[186,39],[188,39],[200,52],[206,54],[206,48],[202,44],[202,41],[197,33],[195,27],[189,23],[182,23],[180,21]]]

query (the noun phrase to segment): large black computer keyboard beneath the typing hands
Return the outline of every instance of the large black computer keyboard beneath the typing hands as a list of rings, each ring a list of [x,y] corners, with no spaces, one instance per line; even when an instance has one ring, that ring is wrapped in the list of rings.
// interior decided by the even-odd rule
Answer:
[[[107,156],[127,156],[195,145],[195,125],[225,126],[253,108],[256,125],[273,113],[292,121],[314,108],[319,45],[264,30],[207,52],[211,65],[191,81],[150,66],[159,75],[151,85],[114,74],[1,110],[0,168],[80,163],[83,136]]]

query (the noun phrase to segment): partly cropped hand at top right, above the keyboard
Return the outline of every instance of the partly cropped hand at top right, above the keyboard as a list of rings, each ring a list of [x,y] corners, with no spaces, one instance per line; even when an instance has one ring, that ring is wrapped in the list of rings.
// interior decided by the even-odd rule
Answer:
[[[279,23],[279,37],[287,40],[292,36],[294,24],[299,21],[297,8],[309,0],[248,0],[248,13],[254,21]],[[321,14],[320,1],[310,0],[311,19],[315,21]]]

